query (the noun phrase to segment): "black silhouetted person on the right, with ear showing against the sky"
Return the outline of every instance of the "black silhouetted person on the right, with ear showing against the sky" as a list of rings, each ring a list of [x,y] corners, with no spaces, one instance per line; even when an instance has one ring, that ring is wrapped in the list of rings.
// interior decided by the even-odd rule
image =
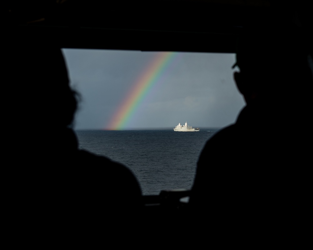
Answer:
[[[313,78],[301,36],[292,28],[239,36],[234,80],[247,105],[206,143],[189,200],[192,218],[220,237],[269,239],[308,216]]]

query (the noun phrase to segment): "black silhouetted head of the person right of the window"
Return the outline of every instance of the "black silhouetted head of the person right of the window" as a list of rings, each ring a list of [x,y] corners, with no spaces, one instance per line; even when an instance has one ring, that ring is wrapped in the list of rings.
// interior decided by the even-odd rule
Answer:
[[[308,91],[311,60],[304,31],[293,20],[248,27],[238,36],[234,80],[247,103],[286,102]]]

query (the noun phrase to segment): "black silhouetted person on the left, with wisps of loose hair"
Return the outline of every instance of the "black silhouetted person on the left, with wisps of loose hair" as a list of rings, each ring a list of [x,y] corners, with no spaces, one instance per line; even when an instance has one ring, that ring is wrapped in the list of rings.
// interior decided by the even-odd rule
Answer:
[[[78,148],[77,93],[61,49],[42,43],[21,42],[4,56],[10,225],[54,243],[131,235],[144,207],[140,185],[126,166]]]

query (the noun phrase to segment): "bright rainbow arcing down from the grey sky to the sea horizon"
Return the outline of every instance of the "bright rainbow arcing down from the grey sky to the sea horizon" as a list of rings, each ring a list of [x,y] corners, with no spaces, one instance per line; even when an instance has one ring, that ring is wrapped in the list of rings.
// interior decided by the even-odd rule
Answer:
[[[106,130],[121,130],[126,127],[130,118],[137,110],[143,99],[158,82],[167,66],[174,58],[174,52],[158,52],[141,76],[133,84],[131,91],[110,119]]]

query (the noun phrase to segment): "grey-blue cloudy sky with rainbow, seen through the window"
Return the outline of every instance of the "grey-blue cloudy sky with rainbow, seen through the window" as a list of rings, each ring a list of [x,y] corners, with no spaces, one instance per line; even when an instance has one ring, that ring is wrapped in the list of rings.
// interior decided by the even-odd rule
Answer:
[[[235,54],[62,49],[80,93],[74,129],[222,128],[244,107]]]

